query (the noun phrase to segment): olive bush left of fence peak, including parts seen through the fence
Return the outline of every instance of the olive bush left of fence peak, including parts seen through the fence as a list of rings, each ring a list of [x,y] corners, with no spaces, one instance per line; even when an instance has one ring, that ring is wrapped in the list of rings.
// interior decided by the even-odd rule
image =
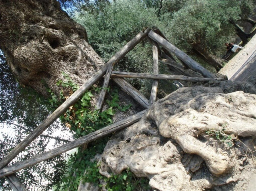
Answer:
[[[156,9],[146,8],[143,1],[116,0],[94,10],[82,9],[74,19],[86,28],[89,43],[104,61],[108,61],[144,27],[156,25],[164,28]],[[116,64],[115,70],[152,72],[152,45],[146,39],[142,41]],[[143,79],[130,80],[130,83],[144,94],[150,92],[152,84]]]

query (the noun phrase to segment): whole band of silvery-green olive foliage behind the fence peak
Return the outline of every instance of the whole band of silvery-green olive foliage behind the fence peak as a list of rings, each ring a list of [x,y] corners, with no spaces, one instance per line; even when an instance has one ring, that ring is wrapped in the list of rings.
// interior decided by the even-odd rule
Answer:
[[[216,60],[225,53],[224,43],[237,33],[233,22],[248,18],[254,7],[252,0],[115,0],[86,6],[80,8],[74,18],[85,26],[89,42],[105,61],[143,26],[154,25],[175,46],[195,59],[201,56],[204,59],[198,60],[201,64],[205,66],[206,62],[217,71],[221,64]],[[149,55],[146,58],[150,58]],[[134,62],[134,56],[133,59],[126,56],[123,61],[126,62],[122,69],[128,70],[126,66],[129,66],[130,71],[131,68],[140,71],[139,66],[145,68],[145,61],[149,63],[147,60],[142,64]]]

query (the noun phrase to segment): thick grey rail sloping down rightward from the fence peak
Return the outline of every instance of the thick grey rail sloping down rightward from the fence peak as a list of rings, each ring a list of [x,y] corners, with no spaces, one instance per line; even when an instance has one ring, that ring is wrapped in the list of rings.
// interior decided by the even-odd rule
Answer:
[[[206,70],[203,66],[198,64],[196,61],[191,59],[187,54],[185,54],[183,51],[172,45],[170,42],[162,38],[160,35],[155,33],[154,31],[150,31],[148,36],[152,38],[154,41],[159,43],[161,46],[166,48],[171,53],[175,54],[180,60],[185,62],[191,69],[198,71],[200,74],[202,74],[204,77],[214,78],[215,76]]]

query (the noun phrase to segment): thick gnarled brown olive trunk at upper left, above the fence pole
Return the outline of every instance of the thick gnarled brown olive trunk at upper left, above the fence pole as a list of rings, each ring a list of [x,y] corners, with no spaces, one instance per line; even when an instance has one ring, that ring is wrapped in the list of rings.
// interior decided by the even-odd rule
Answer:
[[[59,92],[61,72],[81,85],[104,64],[56,0],[0,0],[0,49],[18,81],[43,95],[46,85]]]

